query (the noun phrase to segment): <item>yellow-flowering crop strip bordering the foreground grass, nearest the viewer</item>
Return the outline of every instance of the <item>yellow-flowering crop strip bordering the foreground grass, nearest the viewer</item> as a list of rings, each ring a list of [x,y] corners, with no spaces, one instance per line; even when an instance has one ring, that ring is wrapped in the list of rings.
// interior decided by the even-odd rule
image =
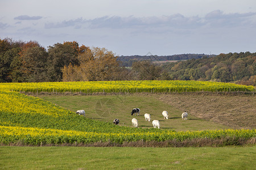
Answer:
[[[134,142],[134,141],[184,141],[200,138],[223,139],[255,138],[256,130],[204,130],[204,131],[156,131],[147,133],[92,133],[74,130],[56,130],[0,126],[0,143],[22,143],[24,145],[94,143],[94,142]]]

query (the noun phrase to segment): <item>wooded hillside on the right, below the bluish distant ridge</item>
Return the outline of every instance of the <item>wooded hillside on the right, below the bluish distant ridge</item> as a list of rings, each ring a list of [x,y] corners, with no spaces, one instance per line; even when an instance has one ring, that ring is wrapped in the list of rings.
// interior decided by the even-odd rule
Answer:
[[[256,53],[228,53],[163,66],[170,79],[213,80],[256,85]]]

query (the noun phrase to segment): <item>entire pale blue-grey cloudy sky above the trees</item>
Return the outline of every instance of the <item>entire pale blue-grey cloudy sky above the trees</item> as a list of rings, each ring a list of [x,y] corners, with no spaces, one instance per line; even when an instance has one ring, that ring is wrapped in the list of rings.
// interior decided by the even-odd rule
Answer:
[[[256,51],[255,0],[0,0],[0,39],[118,56]]]

